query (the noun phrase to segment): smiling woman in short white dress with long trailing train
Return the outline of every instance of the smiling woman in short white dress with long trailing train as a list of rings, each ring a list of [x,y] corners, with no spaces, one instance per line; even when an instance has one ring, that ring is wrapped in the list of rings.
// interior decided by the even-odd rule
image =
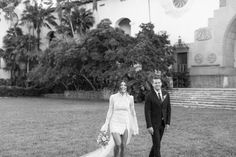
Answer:
[[[82,157],[123,157],[132,135],[138,134],[134,97],[127,93],[124,80],[119,83],[119,91],[110,96],[106,121],[101,131],[110,132],[108,145]]]

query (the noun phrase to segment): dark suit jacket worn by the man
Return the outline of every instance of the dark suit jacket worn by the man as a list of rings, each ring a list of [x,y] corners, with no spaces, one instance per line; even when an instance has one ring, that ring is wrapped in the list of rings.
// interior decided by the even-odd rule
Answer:
[[[156,92],[152,89],[145,98],[145,119],[147,128],[160,127],[162,124],[162,118],[164,124],[170,125],[171,119],[171,104],[169,93],[165,90],[162,91],[161,101]]]

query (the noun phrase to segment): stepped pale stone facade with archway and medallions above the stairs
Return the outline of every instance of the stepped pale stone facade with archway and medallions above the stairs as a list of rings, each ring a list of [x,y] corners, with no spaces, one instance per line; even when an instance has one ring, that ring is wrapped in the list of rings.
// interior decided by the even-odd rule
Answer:
[[[236,88],[236,1],[220,0],[189,50],[191,87]]]

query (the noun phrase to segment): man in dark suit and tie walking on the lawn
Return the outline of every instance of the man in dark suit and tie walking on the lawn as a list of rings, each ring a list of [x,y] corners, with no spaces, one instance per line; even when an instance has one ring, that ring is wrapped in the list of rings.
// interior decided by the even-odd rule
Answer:
[[[147,130],[151,134],[153,142],[149,157],[161,157],[161,139],[164,129],[168,129],[170,125],[170,96],[167,91],[161,89],[160,77],[153,77],[151,83],[153,88],[145,98]]]

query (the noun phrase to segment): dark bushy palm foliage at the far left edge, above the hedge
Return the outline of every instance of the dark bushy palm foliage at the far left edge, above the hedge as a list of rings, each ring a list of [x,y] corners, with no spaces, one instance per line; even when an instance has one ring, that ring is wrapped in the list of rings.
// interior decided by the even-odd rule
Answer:
[[[30,35],[24,35],[19,27],[10,28],[3,38],[2,57],[6,62],[6,70],[11,71],[12,85],[25,86],[26,66],[33,64],[35,60],[34,45],[36,39]]]

